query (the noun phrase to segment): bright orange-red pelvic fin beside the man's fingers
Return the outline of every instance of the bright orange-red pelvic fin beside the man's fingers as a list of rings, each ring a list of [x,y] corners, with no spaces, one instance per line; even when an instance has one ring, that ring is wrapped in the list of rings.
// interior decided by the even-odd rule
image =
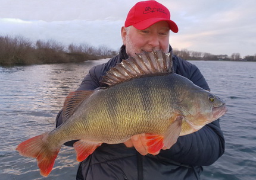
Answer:
[[[149,134],[146,133],[146,146],[147,146],[147,152],[149,154],[154,154],[159,152],[164,147],[164,137],[157,135],[157,134]]]

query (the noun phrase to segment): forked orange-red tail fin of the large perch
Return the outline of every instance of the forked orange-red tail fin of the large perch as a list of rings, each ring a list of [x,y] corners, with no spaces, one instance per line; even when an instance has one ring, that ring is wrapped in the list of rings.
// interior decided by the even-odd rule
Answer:
[[[60,147],[56,149],[49,149],[46,137],[48,132],[39,136],[32,137],[20,144],[18,144],[16,150],[21,156],[33,157],[38,160],[38,167],[42,176],[48,176],[54,166],[54,161],[58,155]]]

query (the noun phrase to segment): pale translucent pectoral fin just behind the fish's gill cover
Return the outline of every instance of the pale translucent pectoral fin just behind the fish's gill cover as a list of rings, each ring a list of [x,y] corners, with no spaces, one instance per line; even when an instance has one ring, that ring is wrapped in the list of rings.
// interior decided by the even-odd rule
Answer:
[[[176,120],[167,128],[167,131],[164,134],[164,146],[167,149],[170,149],[180,136],[180,131],[182,130],[182,118],[181,115],[178,115]]]

